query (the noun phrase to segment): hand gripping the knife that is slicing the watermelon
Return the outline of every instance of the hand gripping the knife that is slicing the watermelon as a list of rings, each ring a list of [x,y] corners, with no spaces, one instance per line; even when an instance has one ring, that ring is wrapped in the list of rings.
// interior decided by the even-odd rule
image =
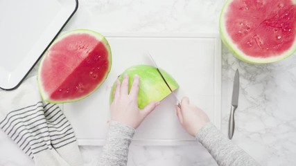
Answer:
[[[182,99],[181,108],[175,106],[177,117],[182,127],[191,135],[196,136],[198,131],[209,122],[209,117],[204,111],[193,104],[190,104],[189,98]]]

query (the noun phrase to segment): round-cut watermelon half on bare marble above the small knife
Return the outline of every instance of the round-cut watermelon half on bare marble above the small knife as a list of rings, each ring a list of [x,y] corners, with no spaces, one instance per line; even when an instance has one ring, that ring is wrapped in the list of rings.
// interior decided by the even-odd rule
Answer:
[[[228,0],[220,14],[220,35],[238,59],[277,62],[296,50],[295,12],[292,0]]]

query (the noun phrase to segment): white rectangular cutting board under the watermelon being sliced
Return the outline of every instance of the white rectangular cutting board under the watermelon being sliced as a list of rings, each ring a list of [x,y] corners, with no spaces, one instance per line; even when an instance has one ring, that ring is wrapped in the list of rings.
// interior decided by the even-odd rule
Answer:
[[[214,34],[103,34],[112,49],[112,69],[101,88],[85,100],[64,104],[64,113],[76,132],[79,145],[104,145],[110,120],[109,96],[116,77],[137,64],[152,64],[170,73],[186,95],[220,128],[221,47]],[[164,99],[134,135],[137,145],[181,145],[195,140],[177,120],[172,95]]]

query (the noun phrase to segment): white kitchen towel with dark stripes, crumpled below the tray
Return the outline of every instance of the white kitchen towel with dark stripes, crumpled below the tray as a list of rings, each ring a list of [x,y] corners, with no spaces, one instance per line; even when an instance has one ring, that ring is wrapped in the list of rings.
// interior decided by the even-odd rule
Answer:
[[[82,165],[71,124],[57,104],[42,101],[37,77],[0,91],[0,128],[37,166]]]

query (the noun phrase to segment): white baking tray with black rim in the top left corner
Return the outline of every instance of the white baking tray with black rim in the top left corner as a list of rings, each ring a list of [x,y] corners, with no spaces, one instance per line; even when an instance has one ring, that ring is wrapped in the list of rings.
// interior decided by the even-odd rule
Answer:
[[[0,88],[15,89],[78,8],[78,0],[0,1]]]

